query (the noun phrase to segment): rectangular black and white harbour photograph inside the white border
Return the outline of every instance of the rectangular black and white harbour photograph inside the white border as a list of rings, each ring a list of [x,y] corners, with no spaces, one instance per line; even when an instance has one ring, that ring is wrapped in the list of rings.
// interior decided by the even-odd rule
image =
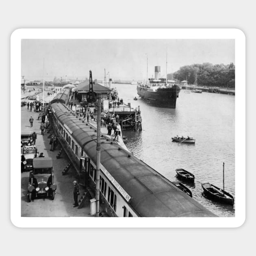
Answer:
[[[195,38],[191,30],[142,31],[145,38],[34,32],[17,31],[16,40],[21,219],[236,223],[239,30],[224,38],[221,30],[214,38],[205,30]]]

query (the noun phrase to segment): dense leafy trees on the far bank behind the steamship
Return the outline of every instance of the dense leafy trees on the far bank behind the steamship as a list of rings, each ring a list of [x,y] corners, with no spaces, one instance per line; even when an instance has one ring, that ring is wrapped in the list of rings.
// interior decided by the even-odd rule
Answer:
[[[167,74],[167,79],[171,79],[172,74]],[[217,86],[235,88],[235,65],[211,63],[193,64],[180,67],[173,73],[173,78],[179,81],[187,80],[188,84]]]

